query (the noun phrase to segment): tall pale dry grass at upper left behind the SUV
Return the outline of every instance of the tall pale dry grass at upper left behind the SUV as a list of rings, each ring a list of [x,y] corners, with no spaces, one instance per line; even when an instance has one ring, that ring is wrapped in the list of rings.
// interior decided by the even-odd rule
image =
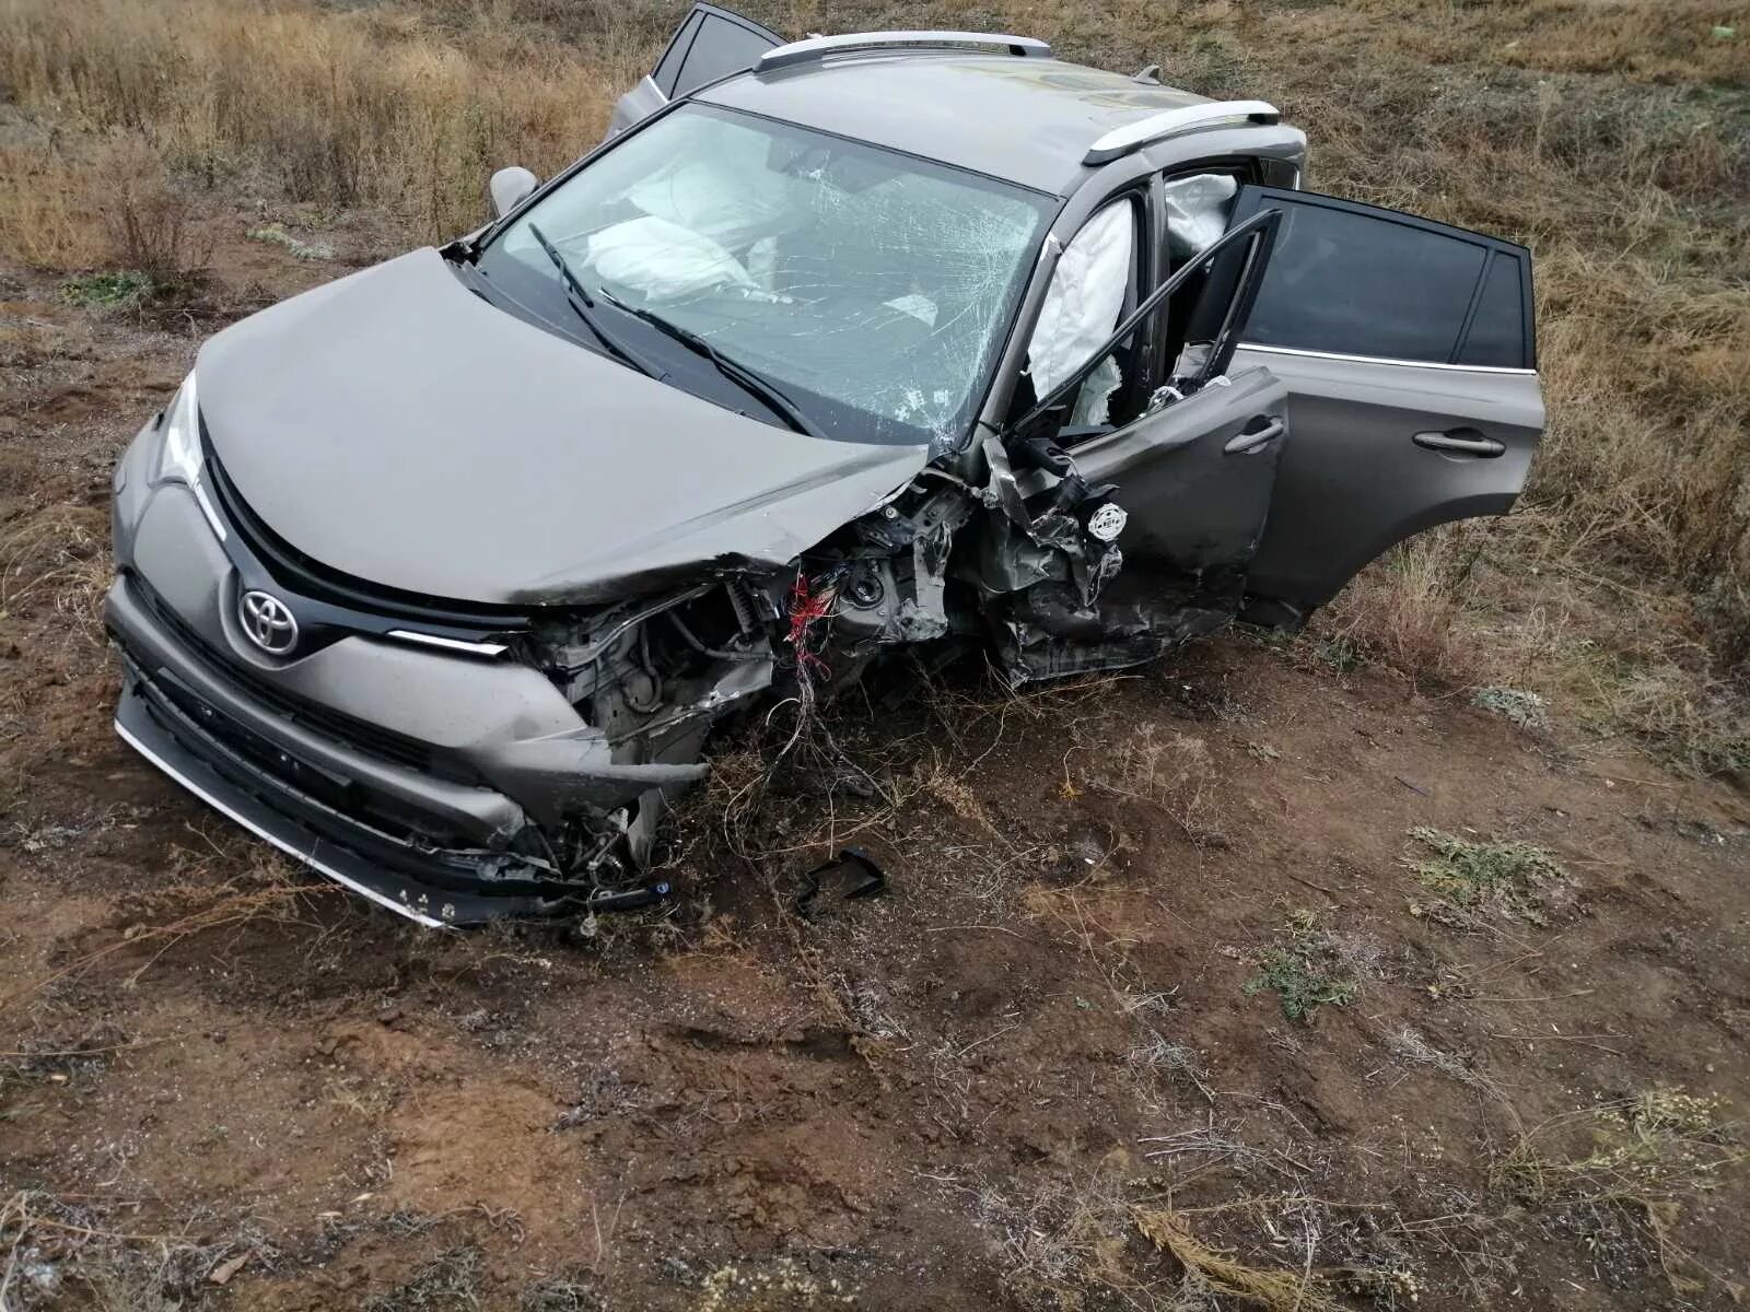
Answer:
[[[387,9],[5,0],[0,79],[63,121],[144,133],[184,171],[259,171],[441,240],[480,222],[494,168],[551,171],[597,140],[635,73],[490,7],[439,30]]]

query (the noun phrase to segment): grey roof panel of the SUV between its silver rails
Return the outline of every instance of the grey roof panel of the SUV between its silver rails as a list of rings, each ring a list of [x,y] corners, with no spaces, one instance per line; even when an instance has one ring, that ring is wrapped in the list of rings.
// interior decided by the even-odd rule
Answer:
[[[738,73],[695,100],[1069,196],[1096,138],[1208,96],[1062,59],[905,49]]]

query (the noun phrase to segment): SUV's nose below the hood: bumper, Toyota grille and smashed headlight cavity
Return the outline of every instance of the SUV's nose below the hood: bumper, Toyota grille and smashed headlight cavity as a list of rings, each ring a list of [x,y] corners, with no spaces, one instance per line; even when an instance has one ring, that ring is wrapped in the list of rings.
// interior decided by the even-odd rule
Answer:
[[[366,595],[275,539],[210,450],[164,476],[175,411],[116,474],[105,621],[135,749],[422,924],[665,892],[642,873],[651,833],[704,777],[710,724],[770,686],[772,593],[710,579],[534,611]],[[290,628],[262,625],[261,598]]]

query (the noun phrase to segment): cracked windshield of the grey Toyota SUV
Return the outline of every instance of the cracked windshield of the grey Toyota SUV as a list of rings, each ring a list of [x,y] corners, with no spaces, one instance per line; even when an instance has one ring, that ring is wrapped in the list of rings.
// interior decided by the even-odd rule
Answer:
[[[606,289],[598,306],[618,299],[705,338],[824,434],[940,450],[971,422],[1055,208],[962,170],[682,105],[509,224],[480,268],[514,261],[520,283],[555,280],[534,220],[586,289]]]

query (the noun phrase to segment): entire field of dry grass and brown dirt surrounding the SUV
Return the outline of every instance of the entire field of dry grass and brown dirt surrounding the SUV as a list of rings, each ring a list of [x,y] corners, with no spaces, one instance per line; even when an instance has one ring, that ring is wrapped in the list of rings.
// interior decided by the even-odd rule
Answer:
[[[206,332],[595,142],[679,5],[0,0],[0,1310],[1741,1305],[1743,10],[747,10],[1160,63],[1526,241],[1533,486],[1293,642],[844,707],[877,798],[732,743],[677,906],[415,934],[116,745],[108,464]],[[847,840],[892,896],[798,917]]]

